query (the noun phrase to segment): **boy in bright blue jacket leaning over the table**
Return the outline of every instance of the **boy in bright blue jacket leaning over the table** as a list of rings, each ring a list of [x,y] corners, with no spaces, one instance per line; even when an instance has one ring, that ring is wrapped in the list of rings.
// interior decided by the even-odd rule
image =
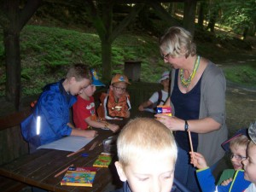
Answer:
[[[75,95],[90,84],[89,68],[76,64],[69,69],[66,79],[44,87],[32,114],[21,122],[22,135],[29,143],[30,153],[40,145],[65,136],[96,137],[96,131],[76,129],[70,122],[69,109],[77,101]]]

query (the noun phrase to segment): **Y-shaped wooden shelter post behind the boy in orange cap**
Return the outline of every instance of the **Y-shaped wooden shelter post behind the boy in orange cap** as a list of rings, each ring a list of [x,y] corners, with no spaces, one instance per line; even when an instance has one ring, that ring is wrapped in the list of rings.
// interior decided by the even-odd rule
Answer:
[[[102,42],[102,80],[110,81],[112,77],[112,44],[121,32],[136,18],[138,12],[143,9],[143,5],[135,5],[131,13],[125,16],[125,19],[113,29],[113,3],[114,1],[102,0],[97,7],[91,0],[84,2],[85,9],[90,20]],[[100,15],[99,13],[102,13]],[[102,16],[102,17],[101,17]]]

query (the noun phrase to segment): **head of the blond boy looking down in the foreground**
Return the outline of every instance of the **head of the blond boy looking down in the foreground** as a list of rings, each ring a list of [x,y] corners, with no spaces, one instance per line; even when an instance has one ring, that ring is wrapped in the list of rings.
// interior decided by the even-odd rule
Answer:
[[[121,131],[117,147],[115,166],[132,192],[172,189],[177,146],[165,125],[156,119],[132,119]]]

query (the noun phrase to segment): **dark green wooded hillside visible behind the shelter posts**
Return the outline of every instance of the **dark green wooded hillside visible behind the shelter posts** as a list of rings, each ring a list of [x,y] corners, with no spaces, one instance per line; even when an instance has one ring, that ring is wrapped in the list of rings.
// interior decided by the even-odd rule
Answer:
[[[234,57],[234,61],[236,57],[241,59],[241,55],[237,53],[249,54],[255,46],[252,34],[255,33],[256,11],[253,4],[255,1],[252,0],[198,2],[195,26],[198,53],[217,63],[230,61],[230,57]],[[163,7],[177,22],[182,22],[183,3],[163,3]],[[118,23],[124,17],[127,9],[127,5],[114,7],[114,23]],[[90,67],[96,68],[101,77],[101,42],[84,13],[83,8],[45,3],[22,30],[20,53],[23,96],[38,94],[44,84],[63,77],[65,70],[73,62],[88,63]],[[160,73],[170,69],[160,58],[157,44],[158,38],[167,27],[168,22],[160,20],[154,10],[147,9],[146,6],[137,16],[137,20],[113,43],[113,73],[122,72],[124,61],[142,61],[141,80],[155,82]],[[0,37],[3,37],[1,34]],[[3,38],[0,38],[1,41],[3,42]],[[247,84],[248,81],[252,84],[256,81],[253,68],[255,65],[245,63],[244,66],[249,66],[245,70],[246,78],[242,77],[244,82],[238,83]],[[6,77],[2,44],[0,67],[0,95],[3,96]],[[236,75],[233,72],[231,74]]]

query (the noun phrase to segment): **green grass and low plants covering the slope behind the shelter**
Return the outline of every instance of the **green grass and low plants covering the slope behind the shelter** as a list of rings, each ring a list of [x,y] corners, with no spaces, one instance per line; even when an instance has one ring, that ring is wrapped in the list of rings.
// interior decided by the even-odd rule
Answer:
[[[208,46],[200,44],[198,52],[211,59],[213,49]],[[95,33],[26,26],[20,33],[20,57],[22,96],[37,95],[45,84],[65,77],[67,68],[76,62],[87,63],[96,69],[100,77],[103,73],[101,42]],[[160,58],[157,38],[143,32],[124,32],[114,41],[113,73],[123,73],[124,63],[128,60],[142,61],[141,80],[146,82],[156,82],[163,71],[171,69]],[[4,95],[5,89],[4,70],[3,33],[0,32],[0,96]],[[246,64],[226,68],[225,75],[238,84],[256,84],[255,67]]]

